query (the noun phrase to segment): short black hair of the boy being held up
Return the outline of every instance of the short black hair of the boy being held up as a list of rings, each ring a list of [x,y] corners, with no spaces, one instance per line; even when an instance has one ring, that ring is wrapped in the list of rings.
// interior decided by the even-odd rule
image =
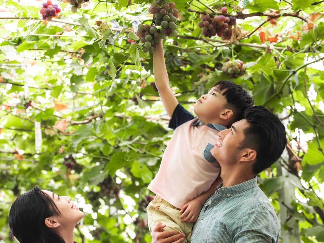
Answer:
[[[227,101],[226,108],[233,110],[231,123],[243,119],[244,110],[254,104],[252,96],[240,85],[232,81],[221,80],[214,87],[220,91],[225,90],[222,94]]]

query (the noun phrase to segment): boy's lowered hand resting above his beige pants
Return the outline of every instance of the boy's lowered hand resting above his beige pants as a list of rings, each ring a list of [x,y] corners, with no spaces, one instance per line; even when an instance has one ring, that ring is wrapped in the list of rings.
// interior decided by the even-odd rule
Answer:
[[[180,210],[180,213],[183,213],[180,216],[181,222],[193,223],[196,222],[200,211],[203,207],[203,203],[199,198],[195,198],[188,203],[184,204]]]

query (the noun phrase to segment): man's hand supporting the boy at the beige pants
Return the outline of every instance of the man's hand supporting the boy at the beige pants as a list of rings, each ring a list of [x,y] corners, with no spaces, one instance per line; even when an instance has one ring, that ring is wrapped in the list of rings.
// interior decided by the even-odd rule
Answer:
[[[184,241],[185,234],[177,230],[163,231],[163,228],[167,226],[158,222],[152,233],[152,243],[180,243]]]

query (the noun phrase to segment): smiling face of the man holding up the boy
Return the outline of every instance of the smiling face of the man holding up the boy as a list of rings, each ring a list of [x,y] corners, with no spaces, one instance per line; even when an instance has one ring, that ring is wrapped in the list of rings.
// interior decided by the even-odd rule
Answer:
[[[218,132],[219,139],[210,152],[221,166],[236,164],[240,160],[242,153],[238,147],[245,139],[243,130],[248,126],[247,120],[242,119],[234,122],[230,128]]]

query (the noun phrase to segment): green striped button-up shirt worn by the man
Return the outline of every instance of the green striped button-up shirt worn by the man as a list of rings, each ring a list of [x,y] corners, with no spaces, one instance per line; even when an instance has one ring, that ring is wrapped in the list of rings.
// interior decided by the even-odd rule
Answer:
[[[257,178],[222,187],[207,200],[193,226],[191,243],[278,243],[280,224]]]

